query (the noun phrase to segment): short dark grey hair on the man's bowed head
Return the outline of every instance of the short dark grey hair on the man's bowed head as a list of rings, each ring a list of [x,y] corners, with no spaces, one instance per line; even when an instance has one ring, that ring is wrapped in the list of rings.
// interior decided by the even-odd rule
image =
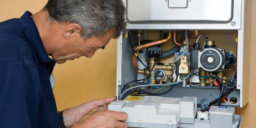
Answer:
[[[44,10],[57,22],[77,23],[84,39],[102,36],[114,29],[118,38],[125,29],[122,0],[49,0]]]

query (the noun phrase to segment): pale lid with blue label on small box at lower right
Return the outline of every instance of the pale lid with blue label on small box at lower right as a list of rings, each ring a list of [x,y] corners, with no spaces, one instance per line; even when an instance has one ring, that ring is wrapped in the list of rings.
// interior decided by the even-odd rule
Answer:
[[[234,111],[234,107],[212,106],[209,110],[209,113],[220,115],[234,115]]]

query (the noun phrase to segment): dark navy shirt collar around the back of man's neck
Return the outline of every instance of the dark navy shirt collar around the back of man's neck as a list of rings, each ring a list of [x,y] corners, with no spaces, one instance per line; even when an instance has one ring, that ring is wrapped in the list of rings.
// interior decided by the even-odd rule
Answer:
[[[35,25],[34,20],[32,19],[32,13],[27,11],[20,18],[19,22],[22,26],[26,39],[29,44],[35,50],[36,55],[42,62],[49,62],[52,59],[49,58],[47,52],[44,48],[43,42],[41,41],[41,37],[39,35],[38,29]]]

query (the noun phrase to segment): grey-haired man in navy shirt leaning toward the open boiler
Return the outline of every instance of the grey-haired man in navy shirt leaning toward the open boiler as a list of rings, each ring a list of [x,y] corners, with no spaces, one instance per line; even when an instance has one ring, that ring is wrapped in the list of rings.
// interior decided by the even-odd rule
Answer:
[[[124,14],[122,0],[49,0],[0,23],[0,128],[126,128],[126,113],[107,111],[116,97],[58,114],[49,81],[55,62],[91,58],[119,37]]]

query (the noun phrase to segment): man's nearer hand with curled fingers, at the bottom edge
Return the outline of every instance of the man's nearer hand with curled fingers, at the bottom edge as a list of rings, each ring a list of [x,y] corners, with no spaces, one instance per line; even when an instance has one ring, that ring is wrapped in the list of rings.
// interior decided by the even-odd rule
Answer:
[[[85,114],[72,128],[127,128],[125,112],[106,111],[107,106],[94,108]]]

